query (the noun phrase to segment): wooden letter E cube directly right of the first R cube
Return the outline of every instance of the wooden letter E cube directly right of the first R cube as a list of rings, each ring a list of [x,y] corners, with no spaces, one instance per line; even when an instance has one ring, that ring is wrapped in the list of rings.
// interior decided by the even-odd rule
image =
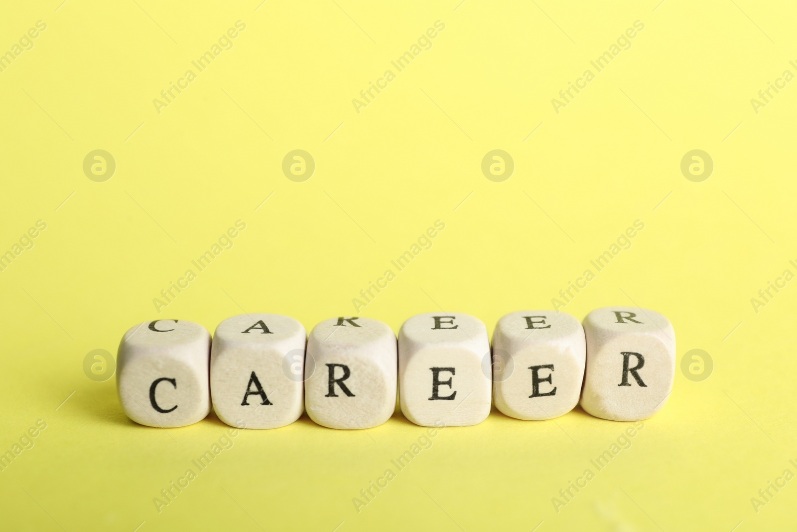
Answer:
[[[422,427],[479,424],[490,413],[490,344],[477,317],[425,313],[398,331],[398,396]]]

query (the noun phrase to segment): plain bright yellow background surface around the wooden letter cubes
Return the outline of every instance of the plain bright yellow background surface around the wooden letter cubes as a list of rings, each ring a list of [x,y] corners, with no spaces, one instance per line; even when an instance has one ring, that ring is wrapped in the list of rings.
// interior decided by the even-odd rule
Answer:
[[[797,481],[757,513],[750,499],[797,473],[797,283],[758,313],[750,300],[797,273],[797,81],[758,113],[750,100],[795,73],[795,6],[458,2],[0,8],[0,52],[47,24],[0,73],[0,252],[47,223],[0,272],[0,451],[47,424],[0,473],[4,530],[793,526]],[[238,20],[234,47],[156,112],[152,100]],[[351,100],[438,20],[432,48],[358,114]],[[631,48],[557,114],[552,98],[637,20]],[[82,169],[95,149],[116,160],[104,183]],[[281,171],[293,149],[316,161],[304,183]],[[481,173],[493,149],[515,163],[503,183]],[[680,170],[693,149],[715,164],[701,183]],[[234,247],[156,313],[152,299],[238,219]],[[152,499],[226,426],[213,415],[168,431],[133,424],[115,379],[84,375],[86,353],[116,353],[128,327],[155,317],[212,331],[241,309],[308,330],[351,315],[359,290],[437,219],[446,229],[434,246],[360,315],[398,330],[445,309],[492,333],[505,313],[550,308],[645,223],[563,309],[581,319],[640,305],[673,322],[673,394],[631,447],[557,513],[552,498],[629,424],[579,408],[544,422],[493,411],[440,432],[358,514],[351,499],[424,429],[400,413],[352,432],[304,416],[241,432],[158,513]],[[690,349],[713,357],[708,380],[682,374]]]

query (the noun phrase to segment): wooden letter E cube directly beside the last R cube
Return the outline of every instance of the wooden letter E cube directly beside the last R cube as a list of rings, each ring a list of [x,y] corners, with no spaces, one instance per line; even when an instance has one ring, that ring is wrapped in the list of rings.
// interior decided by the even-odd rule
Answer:
[[[587,346],[581,323],[556,310],[502,317],[493,333],[496,408],[519,420],[550,420],[579,404]]]

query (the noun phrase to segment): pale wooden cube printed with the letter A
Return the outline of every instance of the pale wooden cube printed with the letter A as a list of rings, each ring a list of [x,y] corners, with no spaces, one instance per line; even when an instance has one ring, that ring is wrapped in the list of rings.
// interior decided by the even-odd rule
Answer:
[[[292,317],[252,313],[222,321],[210,355],[218,418],[239,428],[277,428],[304,410],[304,326]]]

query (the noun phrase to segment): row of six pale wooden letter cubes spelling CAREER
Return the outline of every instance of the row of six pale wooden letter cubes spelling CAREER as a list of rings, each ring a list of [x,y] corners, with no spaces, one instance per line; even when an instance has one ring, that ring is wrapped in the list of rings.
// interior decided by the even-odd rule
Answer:
[[[465,426],[498,410],[548,420],[576,404],[634,421],[660,410],[673,387],[675,333],[652,310],[607,307],[583,324],[552,310],[498,321],[492,350],[479,319],[425,313],[391,328],[365,317],[320,322],[309,337],[292,317],[242,314],[210,333],[182,320],[124,334],[117,386],[124,412],[151,427],[202,420],[211,403],[238,428],[277,428],[306,409],[329,428],[371,428],[396,403],[414,424]]]

